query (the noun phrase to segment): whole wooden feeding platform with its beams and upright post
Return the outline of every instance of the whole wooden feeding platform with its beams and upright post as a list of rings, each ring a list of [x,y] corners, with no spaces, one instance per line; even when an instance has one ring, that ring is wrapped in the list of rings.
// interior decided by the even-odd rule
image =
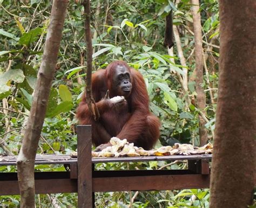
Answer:
[[[78,158],[37,155],[37,165],[60,164],[66,171],[35,172],[36,193],[78,192],[78,207],[93,207],[94,192],[203,189],[210,186],[212,155],[91,157],[91,126],[78,126]],[[96,163],[188,161],[186,170],[95,170]],[[0,156],[0,166],[16,156]],[[0,172],[0,195],[19,195],[17,172]]]

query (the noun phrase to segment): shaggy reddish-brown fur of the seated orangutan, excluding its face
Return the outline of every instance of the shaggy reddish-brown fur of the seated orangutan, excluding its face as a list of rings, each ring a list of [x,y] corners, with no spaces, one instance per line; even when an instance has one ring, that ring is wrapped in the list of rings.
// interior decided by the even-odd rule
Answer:
[[[107,89],[110,98],[117,96],[112,87],[112,77],[116,67],[123,65],[129,69],[132,82],[131,94],[126,102],[113,105],[110,100],[104,99]],[[99,70],[92,74],[92,92],[99,109],[100,119],[95,121],[87,107],[85,95],[77,109],[77,118],[80,124],[92,125],[92,142],[96,146],[109,142],[116,136],[126,138],[138,147],[150,149],[159,138],[159,119],[150,113],[149,95],[142,74],[130,68],[125,61],[114,61],[106,70]]]

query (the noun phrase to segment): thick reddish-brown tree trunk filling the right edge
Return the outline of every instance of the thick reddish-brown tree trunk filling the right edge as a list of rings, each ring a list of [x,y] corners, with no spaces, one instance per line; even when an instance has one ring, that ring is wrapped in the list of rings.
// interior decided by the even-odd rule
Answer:
[[[220,1],[220,73],[210,207],[247,207],[255,182],[256,4]]]

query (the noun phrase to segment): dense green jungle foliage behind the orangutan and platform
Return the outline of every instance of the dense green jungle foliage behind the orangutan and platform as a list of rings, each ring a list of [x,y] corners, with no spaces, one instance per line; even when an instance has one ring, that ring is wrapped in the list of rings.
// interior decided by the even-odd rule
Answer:
[[[200,2],[204,32],[206,128],[209,141],[212,141],[218,82],[218,2]],[[42,60],[51,1],[0,0],[0,3],[0,155],[11,152],[17,155]],[[150,109],[161,120],[161,137],[157,145],[171,145],[174,142],[198,145],[199,141],[200,112],[194,102],[194,37],[190,8],[187,0],[178,4],[166,0],[91,2],[94,70],[105,68],[112,60],[120,59],[143,74],[151,100]],[[163,46],[165,16],[171,10],[186,59],[190,106],[187,106],[178,79],[178,74],[184,73],[184,66],[180,64],[177,46],[174,45],[173,56]],[[78,1],[70,1],[38,153],[69,154],[76,150],[75,113],[86,75],[83,21],[83,6]],[[162,165],[161,162],[136,163],[130,164],[129,168],[157,169]],[[177,163],[167,168],[185,168],[185,165]],[[116,170],[127,168],[127,164],[98,164],[96,168]],[[2,172],[12,169],[0,167]],[[62,169],[50,165],[37,167],[38,171]],[[133,205],[206,207],[208,195],[208,190],[140,192]],[[76,206],[75,194],[40,195],[37,196],[37,203],[42,207],[49,206],[51,197],[57,198],[60,206]],[[0,197],[3,206],[18,206],[18,200],[13,196]],[[100,207],[126,207],[129,202],[129,193],[97,195],[97,205]]]

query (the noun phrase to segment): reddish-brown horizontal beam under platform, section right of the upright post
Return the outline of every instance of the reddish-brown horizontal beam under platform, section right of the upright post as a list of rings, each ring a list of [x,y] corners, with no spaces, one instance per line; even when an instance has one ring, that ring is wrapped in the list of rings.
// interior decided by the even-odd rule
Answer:
[[[93,192],[204,189],[210,175],[167,175],[93,178]]]

